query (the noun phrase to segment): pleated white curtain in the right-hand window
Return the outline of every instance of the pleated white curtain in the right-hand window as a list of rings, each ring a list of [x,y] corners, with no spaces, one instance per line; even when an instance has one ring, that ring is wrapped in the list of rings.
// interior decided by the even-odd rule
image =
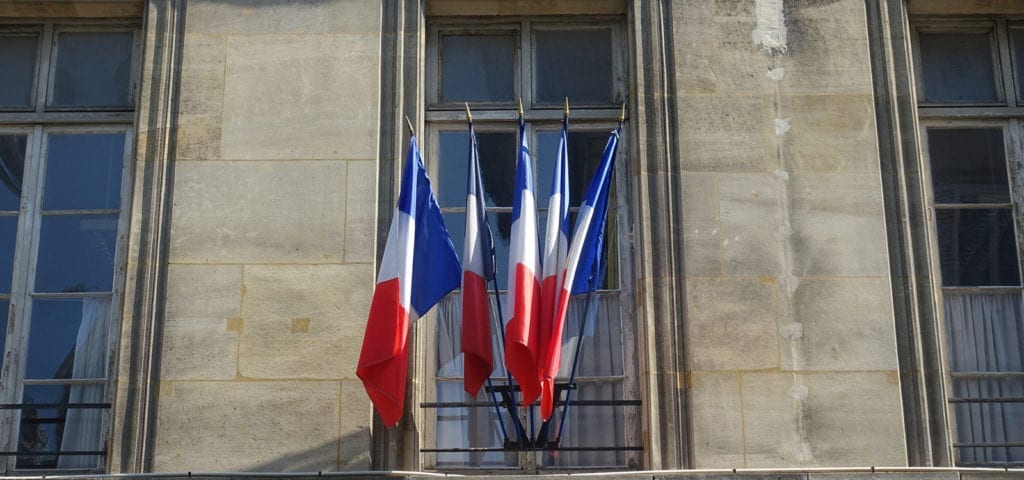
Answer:
[[[957,373],[1024,373],[1021,294],[944,295],[950,370],[957,398],[1024,398],[1024,377],[955,378]],[[956,403],[959,443],[1024,442],[1024,402]],[[1024,447],[963,447],[962,464],[1024,463]]]

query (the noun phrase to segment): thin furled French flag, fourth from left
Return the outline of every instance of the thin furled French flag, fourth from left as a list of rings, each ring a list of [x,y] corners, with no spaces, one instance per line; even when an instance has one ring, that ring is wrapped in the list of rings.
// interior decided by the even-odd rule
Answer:
[[[568,117],[562,118],[562,134],[558,139],[558,157],[555,159],[555,172],[551,181],[551,198],[548,200],[548,226],[544,242],[544,274],[541,278],[541,352],[553,348],[550,344],[558,344],[561,348],[561,330],[555,334],[558,315],[559,297],[562,295],[562,279],[565,275],[565,257],[569,245],[569,156],[568,156]],[[540,368],[541,381],[541,417],[548,420],[554,409],[555,367],[549,375],[549,368],[542,356]]]

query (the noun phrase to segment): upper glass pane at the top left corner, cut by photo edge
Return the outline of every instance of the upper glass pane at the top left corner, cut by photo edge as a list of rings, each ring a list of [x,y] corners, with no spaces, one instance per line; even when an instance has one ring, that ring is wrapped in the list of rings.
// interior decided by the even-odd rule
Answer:
[[[39,36],[0,35],[0,106],[32,106]]]

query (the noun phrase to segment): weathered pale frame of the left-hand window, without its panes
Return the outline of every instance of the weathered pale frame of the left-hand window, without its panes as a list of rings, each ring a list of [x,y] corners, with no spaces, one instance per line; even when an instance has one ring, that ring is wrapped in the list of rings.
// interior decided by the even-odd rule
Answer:
[[[125,20],[83,20],[83,21],[25,21],[17,20],[0,25],[3,32],[38,32],[40,35],[37,51],[37,70],[33,83],[33,106],[31,110],[5,110],[0,112],[0,132],[19,133],[28,135],[26,147],[26,167],[23,175],[23,198],[17,212],[18,225],[15,242],[15,258],[12,274],[11,293],[4,296],[10,299],[11,324],[4,348],[6,357],[10,360],[0,373],[0,403],[16,405],[20,403],[24,388],[29,385],[102,385],[103,401],[97,406],[106,410],[100,430],[100,438],[109,438],[112,430],[111,405],[114,400],[114,377],[116,376],[116,344],[121,323],[121,304],[124,298],[125,265],[127,260],[127,233],[132,193],[132,167],[134,157],[134,121],[135,104],[137,103],[138,85],[140,80],[141,30],[138,23]],[[53,64],[56,58],[56,37],[59,32],[131,32],[132,50],[131,73],[129,78],[129,105],[101,107],[60,107],[47,105],[52,87]],[[114,278],[112,290],[101,293],[41,293],[33,290],[35,264],[39,248],[40,226],[42,224],[42,194],[45,181],[46,147],[49,135],[52,134],[89,134],[117,133],[123,135],[124,151],[122,156],[120,206],[118,209],[88,210],[90,214],[117,214],[117,233],[114,253]],[[48,211],[47,214],[84,213],[85,211]],[[8,213],[9,214],[9,213]],[[28,361],[28,335],[32,299],[34,298],[109,298],[110,316],[106,345],[106,374],[99,379],[25,379],[25,368]],[[0,451],[16,450],[20,409],[0,408]],[[109,442],[104,441],[104,444]],[[96,456],[96,465],[86,469],[17,469],[17,456],[0,457],[0,474],[24,472],[32,474],[80,472],[98,473],[105,470],[110,454]]]

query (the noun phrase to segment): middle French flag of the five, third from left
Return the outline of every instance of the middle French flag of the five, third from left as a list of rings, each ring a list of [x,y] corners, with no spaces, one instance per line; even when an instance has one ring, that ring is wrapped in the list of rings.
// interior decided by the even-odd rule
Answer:
[[[505,326],[505,365],[519,382],[523,404],[540,395],[541,258],[538,248],[537,202],[534,169],[526,144],[526,125],[519,120],[519,157],[512,199],[512,234],[509,241],[509,298],[512,317]]]

